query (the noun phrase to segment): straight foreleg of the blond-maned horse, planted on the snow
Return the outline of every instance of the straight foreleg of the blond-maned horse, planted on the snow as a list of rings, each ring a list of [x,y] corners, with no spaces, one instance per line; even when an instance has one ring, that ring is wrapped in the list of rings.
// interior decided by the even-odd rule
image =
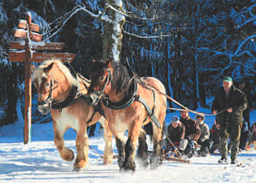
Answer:
[[[73,165],[73,171],[80,171],[88,164],[89,138],[86,133],[86,126],[80,127],[75,139],[75,146],[77,148],[77,157]]]

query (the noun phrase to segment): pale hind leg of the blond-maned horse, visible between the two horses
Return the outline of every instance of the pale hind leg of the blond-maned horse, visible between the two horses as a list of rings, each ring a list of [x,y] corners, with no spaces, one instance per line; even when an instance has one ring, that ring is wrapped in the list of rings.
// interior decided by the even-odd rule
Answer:
[[[112,133],[109,129],[108,122],[102,117],[100,119],[100,124],[104,128],[104,155],[103,155],[103,164],[112,164],[113,163],[113,150],[112,150]]]

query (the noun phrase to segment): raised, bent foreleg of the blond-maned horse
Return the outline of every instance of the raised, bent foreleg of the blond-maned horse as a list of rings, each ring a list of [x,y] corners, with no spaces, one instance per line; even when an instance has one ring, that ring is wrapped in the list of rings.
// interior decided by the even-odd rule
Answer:
[[[64,145],[63,135],[66,128],[59,125],[57,122],[53,121],[53,131],[54,131],[54,144],[59,150],[60,156],[63,160],[72,161],[74,159],[74,153],[71,149],[66,148]]]

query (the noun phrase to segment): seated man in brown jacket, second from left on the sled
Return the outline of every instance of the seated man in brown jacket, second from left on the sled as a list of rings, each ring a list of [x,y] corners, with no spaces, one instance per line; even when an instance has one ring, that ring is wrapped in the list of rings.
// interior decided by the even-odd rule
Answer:
[[[190,118],[188,110],[181,110],[181,122],[185,126],[185,139],[188,139],[184,153],[188,157],[192,157],[194,155],[194,142],[199,139],[201,131],[194,119]]]

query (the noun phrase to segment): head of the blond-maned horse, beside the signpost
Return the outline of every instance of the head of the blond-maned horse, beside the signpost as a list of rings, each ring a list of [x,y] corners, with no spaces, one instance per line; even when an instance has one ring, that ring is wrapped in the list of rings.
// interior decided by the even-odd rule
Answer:
[[[37,108],[46,115],[51,111],[51,104],[63,100],[77,80],[62,61],[49,60],[33,69],[33,84],[37,88]]]

